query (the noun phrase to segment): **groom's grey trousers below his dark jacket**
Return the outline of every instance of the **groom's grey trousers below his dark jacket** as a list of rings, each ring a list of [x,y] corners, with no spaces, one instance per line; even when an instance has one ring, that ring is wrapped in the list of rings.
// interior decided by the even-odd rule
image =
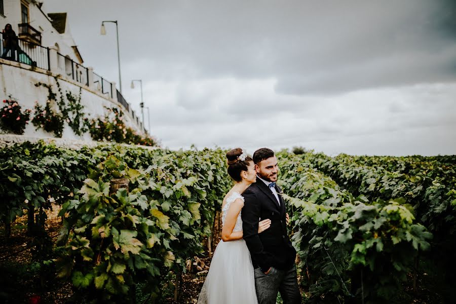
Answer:
[[[278,292],[280,292],[284,304],[301,303],[296,265],[289,270],[279,270],[273,267],[267,275],[260,268],[255,268],[254,273],[258,304],[276,304]]]

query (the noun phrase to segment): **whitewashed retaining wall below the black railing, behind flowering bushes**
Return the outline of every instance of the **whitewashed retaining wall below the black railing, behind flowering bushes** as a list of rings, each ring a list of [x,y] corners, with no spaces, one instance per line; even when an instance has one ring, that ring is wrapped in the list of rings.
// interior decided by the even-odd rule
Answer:
[[[35,87],[35,84],[40,82],[50,84],[53,86],[54,93],[58,93],[55,76],[55,74],[46,70],[0,59],[0,100],[3,101],[11,95],[11,97],[18,100],[23,108],[33,109],[35,101],[38,101],[41,105],[45,105],[48,99],[48,90],[41,86]],[[125,113],[124,119],[126,125],[134,129],[138,134],[143,134],[140,131],[141,127],[133,122],[133,119],[127,114],[126,109],[118,104],[116,98],[108,98],[105,95],[103,96],[99,91],[91,90],[71,80],[60,78],[58,82],[63,94],[65,94],[65,91],[70,91],[73,95],[78,96],[80,88],[82,88],[81,102],[84,105],[84,111],[87,117],[104,116],[106,112],[104,106],[116,106]],[[66,100],[66,97],[64,98]],[[0,103],[3,102],[0,101]],[[29,123],[25,129],[24,136],[53,137],[53,134],[47,133],[43,129],[35,130],[35,127]],[[90,134],[86,133],[82,137],[77,136],[66,124],[62,138],[91,140]]]

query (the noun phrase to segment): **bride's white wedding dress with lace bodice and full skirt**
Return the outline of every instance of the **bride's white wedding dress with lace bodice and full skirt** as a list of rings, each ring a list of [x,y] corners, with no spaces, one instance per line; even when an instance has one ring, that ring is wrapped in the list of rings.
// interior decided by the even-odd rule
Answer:
[[[222,224],[231,203],[244,198],[237,192],[226,198],[222,208]],[[242,231],[241,212],[234,232]],[[243,239],[218,243],[209,272],[201,289],[198,304],[257,304],[255,279],[250,252]]]

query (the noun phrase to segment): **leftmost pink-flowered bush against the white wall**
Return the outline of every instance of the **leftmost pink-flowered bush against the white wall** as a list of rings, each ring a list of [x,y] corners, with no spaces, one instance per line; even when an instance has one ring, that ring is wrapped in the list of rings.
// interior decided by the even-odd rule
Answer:
[[[24,134],[31,110],[22,110],[19,103],[11,98],[4,100],[3,104],[3,108],[0,110],[0,126],[2,129],[14,134]]]

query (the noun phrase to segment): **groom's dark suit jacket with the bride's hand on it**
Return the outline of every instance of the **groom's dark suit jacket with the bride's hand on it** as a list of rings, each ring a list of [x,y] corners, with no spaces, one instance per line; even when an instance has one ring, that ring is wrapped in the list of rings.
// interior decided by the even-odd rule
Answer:
[[[281,189],[276,185],[277,193]],[[242,194],[243,238],[250,251],[253,267],[267,272],[270,267],[288,270],[294,264],[296,250],[288,238],[285,204],[279,195],[280,206],[271,189],[262,181],[252,183]],[[258,234],[258,222],[271,219],[271,226]]]

